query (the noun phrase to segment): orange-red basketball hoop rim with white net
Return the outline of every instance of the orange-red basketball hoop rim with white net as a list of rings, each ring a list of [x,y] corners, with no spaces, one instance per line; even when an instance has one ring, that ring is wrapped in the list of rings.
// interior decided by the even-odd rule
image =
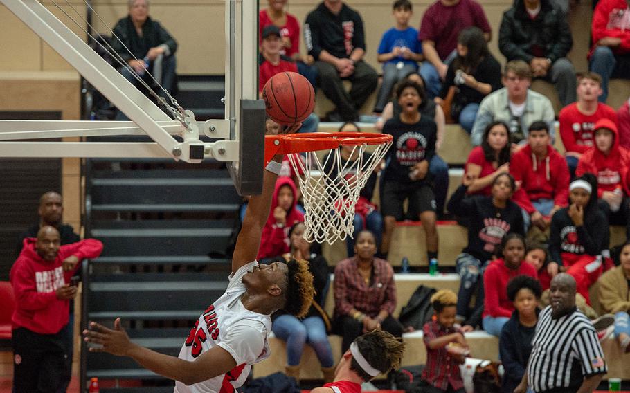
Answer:
[[[370,174],[381,163],[392,136],[365,132],[311,132],[267,136],[265,159],[287,154],[299,176],[305,208],[304,238],[333,244],[337,239],[352,237],[354,207]],[[346,163],[340,147],[350,147]],[[371,156],[363,159],[368,146]],[[321,152],[317,154],[317,152]]]

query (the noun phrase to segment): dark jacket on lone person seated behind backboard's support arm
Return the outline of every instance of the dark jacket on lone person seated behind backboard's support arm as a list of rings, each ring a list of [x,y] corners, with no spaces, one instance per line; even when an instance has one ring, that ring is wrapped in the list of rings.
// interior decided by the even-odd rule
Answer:
[[[168,46],[168,50],[172,55],[177,51],[177,42],[171,35],[163,28],[159,21],[154,21],[150,17],[147,17],[145,24],[142,26],[142,37],[136,33],[134,22],[131,17],[120,19],[114,27],[114,34],[120,38],[120,41],[116,37],[111,39],[111,47],[114,51],[125,60],[125,62],[132,59],[132,55],[127,52],[127,49],[123,46],[127,46],[129,51],[132,51],[134,56],[138,59],[145,57],[150,48],[165,44]]]

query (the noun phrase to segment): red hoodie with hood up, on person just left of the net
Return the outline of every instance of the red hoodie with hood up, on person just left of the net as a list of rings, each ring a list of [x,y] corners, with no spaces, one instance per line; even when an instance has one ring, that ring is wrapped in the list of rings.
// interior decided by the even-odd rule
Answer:
[[[284,226],[276,225],[276,218],[273,217],[273,210],[278,207],[278,191],[283,185],[288,185],[293,191],[293,204],[287,211],[287,223]],[[298,222],[304,222],[304,214],[296,209],[298,204],[296,198],[296,183],[288,177],[279,177],[276,181],[276,189],[273,190],[271,197],[271,210],[267,223],[262,228],[262,236],[260,237],[260,248],[258,248],[258,259],[277,257],[289,252],[289,229]]]

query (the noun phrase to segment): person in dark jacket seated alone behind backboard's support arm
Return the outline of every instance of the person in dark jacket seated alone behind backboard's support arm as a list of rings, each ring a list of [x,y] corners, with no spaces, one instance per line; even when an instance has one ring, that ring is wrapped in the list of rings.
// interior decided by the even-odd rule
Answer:
[[[166,91],[172,93],[175,87],[177,61],[174,54],[177,42],[159,21],[149,16],[149,0],[129,0],[128,3],[129,15],[114,26],[114,35],[120,41],[111,40],[111,48],[118,59],[128,65],[118,68],[118,71],[134,85],[138,84],[136,76],[147,78],[145,73],[148,71]],[[156,93],[168,98],[162,89]],[[116,118],[126,120],[120,111]]]

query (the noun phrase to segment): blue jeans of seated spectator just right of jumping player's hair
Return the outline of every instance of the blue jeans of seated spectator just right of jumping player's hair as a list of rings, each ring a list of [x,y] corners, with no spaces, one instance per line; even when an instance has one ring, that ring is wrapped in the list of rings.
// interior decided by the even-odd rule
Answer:
[[[283,314],[273,321],[271,330],[276,337],[287,342],[287,364],[300,364],[304,345],[310,345],[319,359],[322,367],[332,367],[332,349],[324,321],[320,317],[309,317],[304,320],[289,314]]]

